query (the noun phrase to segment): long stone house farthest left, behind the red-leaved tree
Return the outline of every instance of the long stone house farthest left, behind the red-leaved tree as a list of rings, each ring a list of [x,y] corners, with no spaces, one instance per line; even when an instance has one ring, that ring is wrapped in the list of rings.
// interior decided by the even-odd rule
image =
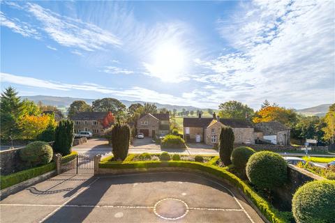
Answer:
[[[112,112],[78,112],[71,118],[75,133],[89,131],[94,135],[103,133],[103,130],[114,124]]]

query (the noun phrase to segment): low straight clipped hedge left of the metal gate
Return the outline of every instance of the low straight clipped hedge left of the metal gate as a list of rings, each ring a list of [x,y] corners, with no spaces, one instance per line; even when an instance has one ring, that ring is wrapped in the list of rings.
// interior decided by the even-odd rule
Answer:
[[[40,167],[26,169],[24,171],[20,171],[15,174],[10,174],[7,176],[0,176],[1,190],[5,189],[6,187],[13,186],[17,183],[21,183],[24,180],[29,180],[36,176],[40,176],[54,169],[56,169],[56,164],[54,162],[50,162]]]

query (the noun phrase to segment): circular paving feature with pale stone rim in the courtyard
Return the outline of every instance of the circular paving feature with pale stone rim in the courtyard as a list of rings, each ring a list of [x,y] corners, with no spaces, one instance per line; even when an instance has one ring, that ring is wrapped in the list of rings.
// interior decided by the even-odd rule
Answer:
[[[165,220],[178,220],[187,215],[188,206],[185,201],[165,198],[155,203],[154,213]]]

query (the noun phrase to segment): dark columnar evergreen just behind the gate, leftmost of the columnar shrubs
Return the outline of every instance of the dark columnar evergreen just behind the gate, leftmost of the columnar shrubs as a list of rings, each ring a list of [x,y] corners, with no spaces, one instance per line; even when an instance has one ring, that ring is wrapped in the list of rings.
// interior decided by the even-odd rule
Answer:
[[[61,155],[71,153],[71,147],[74,139],[73,121],[61,120],[54,130],[54,151]]]

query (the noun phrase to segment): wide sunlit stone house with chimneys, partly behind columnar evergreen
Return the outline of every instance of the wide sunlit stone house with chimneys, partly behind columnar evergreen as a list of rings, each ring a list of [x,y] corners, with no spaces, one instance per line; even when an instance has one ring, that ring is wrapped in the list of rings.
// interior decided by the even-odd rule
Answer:
[[[229,126],[234,132],[235,144],[255,144],[252,123],[237,118],[184,118],[184,139],[186,141],[217,144],[221,128]]]

